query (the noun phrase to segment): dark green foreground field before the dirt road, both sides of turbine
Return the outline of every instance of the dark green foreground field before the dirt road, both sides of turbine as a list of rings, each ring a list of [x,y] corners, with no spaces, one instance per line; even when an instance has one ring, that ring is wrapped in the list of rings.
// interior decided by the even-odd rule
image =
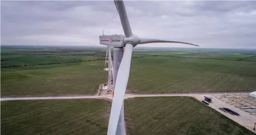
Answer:
[[[192,97],[124,100],[127,135],[255,135]],[[93,99],[1,101],[1,135],[106,135],[111,104]]]

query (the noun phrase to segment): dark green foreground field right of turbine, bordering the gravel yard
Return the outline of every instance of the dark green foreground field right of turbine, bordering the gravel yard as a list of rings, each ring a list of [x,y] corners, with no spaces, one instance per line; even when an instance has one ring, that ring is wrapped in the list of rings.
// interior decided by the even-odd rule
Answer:
[[[129,135],[255,135],[192,97],[127,99]]]

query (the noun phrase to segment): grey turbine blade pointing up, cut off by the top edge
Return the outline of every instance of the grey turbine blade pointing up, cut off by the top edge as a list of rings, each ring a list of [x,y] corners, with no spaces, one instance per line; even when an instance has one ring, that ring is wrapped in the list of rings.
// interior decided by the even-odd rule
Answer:
[[[116,9],[118,11],[121,23],[122,23],[122,27],[123,27],[123,32],[125,37],[131,37],[133,35],[132,33],[132,29],[129,23],[129,19],[125,10],[125,6],[123,3],[123,0],[114,0],[115,2],[115,6]]]

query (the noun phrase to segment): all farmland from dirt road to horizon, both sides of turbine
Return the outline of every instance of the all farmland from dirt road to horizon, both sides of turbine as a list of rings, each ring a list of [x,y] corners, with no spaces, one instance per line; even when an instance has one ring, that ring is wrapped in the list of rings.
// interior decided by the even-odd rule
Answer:
[[[256,51],[134,49],[128,92],[256,89]],[[1,97],[94,95],[107,82],[102,47],[2,47]]]

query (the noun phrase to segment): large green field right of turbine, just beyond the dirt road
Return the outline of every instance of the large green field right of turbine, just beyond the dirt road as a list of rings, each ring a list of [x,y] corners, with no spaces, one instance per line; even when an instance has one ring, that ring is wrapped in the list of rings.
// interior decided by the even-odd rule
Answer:
[[[253,91],[255,69],[255,62],[146,57],[132,61],[128,90],[135,93]]]

